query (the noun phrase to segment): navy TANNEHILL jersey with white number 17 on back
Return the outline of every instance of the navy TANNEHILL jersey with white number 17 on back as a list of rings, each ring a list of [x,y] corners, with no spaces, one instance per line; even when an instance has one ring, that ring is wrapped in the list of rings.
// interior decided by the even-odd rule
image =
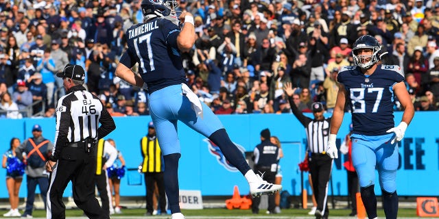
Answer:
[[[186,83],[177,47],[178,34],[178,21],[171,17],[154,18],[132,25],[126,31],[128,49],[120,62],[128,68],[139,63],[139,74],[150,94],[167,86]]]

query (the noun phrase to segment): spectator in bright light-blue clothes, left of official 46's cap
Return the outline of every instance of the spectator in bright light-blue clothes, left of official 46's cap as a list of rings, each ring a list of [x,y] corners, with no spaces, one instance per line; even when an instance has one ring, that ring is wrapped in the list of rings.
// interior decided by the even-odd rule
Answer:
[[[38,60],[38,64],[36,65],[36,71],[43,75],[43,83],[47,86],[47,105],[51,105],[51,103],[54,102],[55,70],[56,66],[54,60],[51,58],[51,49],[47,48],[44,51],[44,56]]]

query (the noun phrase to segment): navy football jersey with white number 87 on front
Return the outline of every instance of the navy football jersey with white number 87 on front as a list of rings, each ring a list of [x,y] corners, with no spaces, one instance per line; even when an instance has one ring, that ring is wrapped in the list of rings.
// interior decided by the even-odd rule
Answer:
[[[358,66],[344,66],[337,79],[346,88],[353,133],[381,136],[394,127],[392,87],[404,80],[399,66],[378,65],[372,75],[364,75]]]

